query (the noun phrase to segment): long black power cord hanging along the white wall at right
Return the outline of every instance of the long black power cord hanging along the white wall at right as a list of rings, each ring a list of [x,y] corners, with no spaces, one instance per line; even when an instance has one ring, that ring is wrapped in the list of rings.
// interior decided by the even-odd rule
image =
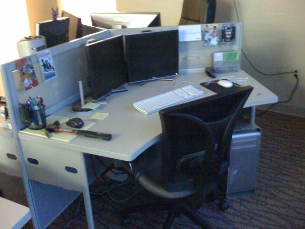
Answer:
[[[239,20],[239,15],[238,15],[238,10],[237,10],[237,7],[236,7],[236,2],[235,2],[235,0],[233,0],[233,2],[234,2],[235,11],[236,11],[237,21],[240,22],[240,20]],[[295,90],[296,90],[296,88],[297,88],[297,86],[298,86],[298,77],[297,77],[297,74],[296,74],[296,73],[297,73],[297,70],[294,70],[294,71],[286,71],[286,72],[279,72],[279,73],[271,73],[271,74],[264,73],[264,72],[260,71],[259,69],[257,69],[257,68],[251,63],[251,61],[250,61],[249,58],[245,55],[245,53],[243,52],[242,49],[241,49],[241,53],[242,53],[243,56],[246,58],[246,60],[248,61],[248,63],[251,65],[251,67],[252,67],[253,69],[255,69],[257,72],[261,73],[262,75],[273,76],[273,75],[283,75],[283,74],[288,74],[288,73],[294,73],[293,76],[296,78],[296,84],[295,84],[295,86],[294,86],[294,88],[293,88],[293,90],[292,90],[292,92],[291,92],[290,97],[289,97],[288,100],[280,101],[280,102],[277,102],[277,103],[272,104],[267,110],[263,111],[263,112],[260,113],[260,114],[257,114],[256,117],[259,116],[259,115],[262,115],[262,114],[266,113],[267,111],[269,111],[269,110],[270,110],[273,106],[275,106],[276,104],[279,104],[279,103],[288,103],[288,102],[290,102],[290,100],[292,99],[292,96],[293,96],[293,94],[294,94],[294,92],[295,92]]]

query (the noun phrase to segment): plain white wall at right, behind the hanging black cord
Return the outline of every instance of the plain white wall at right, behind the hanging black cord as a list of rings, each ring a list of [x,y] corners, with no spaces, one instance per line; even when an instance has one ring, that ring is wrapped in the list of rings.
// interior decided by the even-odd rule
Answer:
[[[236,0],[243,22],[243,51],[265,73],[297,69],[299,86],[291,102],[274,106],[282,113],[305,116],[305,1]],[[233,0],[218,0],[216,22],[237,21]],[[287,100],[296,79],[292,74],[264,76],[242,59],[242,69]]]

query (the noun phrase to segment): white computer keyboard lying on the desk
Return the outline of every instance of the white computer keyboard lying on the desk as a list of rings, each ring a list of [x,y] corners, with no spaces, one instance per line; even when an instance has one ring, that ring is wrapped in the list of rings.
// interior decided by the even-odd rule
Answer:
[[[158,96],[154,96],[139,102],[133,103],[133,107],[139,112],[148,115],[174,104],[185,102],[195,97],[204,95],[204,91],[192,85],[187,85]]]

